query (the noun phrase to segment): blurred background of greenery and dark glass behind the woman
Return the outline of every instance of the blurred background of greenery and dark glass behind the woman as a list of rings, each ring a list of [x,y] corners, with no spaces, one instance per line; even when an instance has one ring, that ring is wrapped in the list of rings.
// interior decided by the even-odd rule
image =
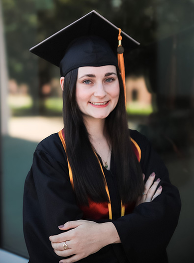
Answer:
[[[37,143],[63,127],[59,70],[28,50],[93,9],[141,43],[125,54],[129,127],[181,194],[169,263],[193,263],[194,0],[0,0],[0,248],[28,259],[24,181]]]

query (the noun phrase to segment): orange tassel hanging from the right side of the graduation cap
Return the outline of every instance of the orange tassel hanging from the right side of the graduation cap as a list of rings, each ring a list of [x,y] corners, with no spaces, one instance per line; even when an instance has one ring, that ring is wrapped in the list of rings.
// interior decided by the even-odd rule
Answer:
[[[126,106],[126,86],[125,86],[125,63],[124,63],[124,57],[123,57],[123,52],[124,48],[122,47],[121,40],[121,29],[119,30],[118,34],[118,48],[117,48],[117,58],[118,58],[118,68],[121,73],[121,77],[123,80],[123,87],[124,87],[124,94],[125,94],[125,106]]]

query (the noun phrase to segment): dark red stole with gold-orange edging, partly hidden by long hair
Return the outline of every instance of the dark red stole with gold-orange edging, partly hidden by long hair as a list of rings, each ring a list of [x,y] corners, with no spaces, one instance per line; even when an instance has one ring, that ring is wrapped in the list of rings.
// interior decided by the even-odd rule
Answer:
[[[64,150],[66,152],[66,155],[67,155],[66,144],[65,144],[65,139],[64,139],[65,138],[65,136],[64,136],[64,129],[62,129],[62,130],[60,130],[58,132],[58,136],[59,136],[59,138],[61,140],[61,143],[62,143],[62,145],[64,147]],[[132,138],[131,138],[131,142],[132,142],[132,147],[133,147],[133,150],[134,150],[134,152],[136,154],[136,157],[138,158],[138,161],[140,162],[140,159],[141,159],[140,147],[136,143],[136,141],[133,140]],[[104,202],[104,203],[97,204],[97,203],[93,202],[92,200],[89,200],[89,207],[88,206],[81,206],[80,208],[82,209],[85,218],[93,218],[93,219],[96,219],[96,220],[98,220],[98,219],[106,219],[107,218],[107,214],[108,214],[109,215],[109,219],[112,219],[111,198],[110,198],[110,194],[109,194],[109,188],[108,188],[106,177],[105,177],[105,174],[104,174],[104,171],[103,171],[103,168],[102,168],[102,164],[101,164],[101,162],[100,162],[100,160],[98,158],[98,155],[96,154],[95,151],[94,151],[94,153],[96,155],[96,158],[97,158],[98,163],[100,165],[100,169],[101,169],[102,174],[104,176],[105,189],[106,189],[107,195],[109,197],[109,203],[107,204],[106,202]],[[68,169],[69,169],[70,182],[71,182],[72,188],[74,189],[73,174],[72,174],[71,166],[69,164],[68,157],[67,157],[67,163],[68,163]],[[125,215],[125,210],[126,210],[127,206],[128,205],[123,205],[122,201],[121,201],[121,216]]]

